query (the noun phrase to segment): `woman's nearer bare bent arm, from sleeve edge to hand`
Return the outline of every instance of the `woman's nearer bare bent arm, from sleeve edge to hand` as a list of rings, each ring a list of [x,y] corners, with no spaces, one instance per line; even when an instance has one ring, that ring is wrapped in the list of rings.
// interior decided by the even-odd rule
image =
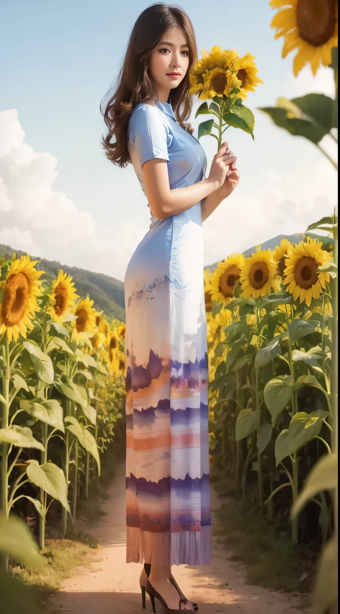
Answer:
[[[156,158],[145,162],[143,177],[149,207],[153,215],[162,220],[186,211],[202,201],[224,184],[229,164],[235,160],[236,158],[228,153],[228,143],[225,142],[214,156],[207,179],[185,188],[173,188],[172,190],[170,190],[167,161]]]

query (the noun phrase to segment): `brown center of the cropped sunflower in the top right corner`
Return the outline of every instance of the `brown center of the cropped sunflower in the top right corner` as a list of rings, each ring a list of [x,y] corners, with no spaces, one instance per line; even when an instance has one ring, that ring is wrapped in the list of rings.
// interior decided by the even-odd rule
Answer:
[[[303,41],[320,47],[331,38],[335,25],[334,0],[298,0],[297,24]]]

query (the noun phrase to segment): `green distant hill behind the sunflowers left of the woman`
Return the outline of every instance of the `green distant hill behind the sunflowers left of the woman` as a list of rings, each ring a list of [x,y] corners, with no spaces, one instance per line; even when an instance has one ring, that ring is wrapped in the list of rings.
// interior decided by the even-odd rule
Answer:
[[[10,258],[16,252],[17,256],[27,252],[21,252],[19,249],[14,250],[9,245],[0,244],[0,254],[8,254]],[[104,311],[108,319],[118,318],[125,321],[125,303],[124,303],[124,283],[103,273],[93,273],[85,269],[77,268],[77,266],[61,265],[61,263],[45,258],[37,258],[33,255],[32,260],[39,260],[37,269],[45,271],[42,279],[46,280],[46,285],[50,286],[52,279],[56,278],[58,270],[61,268],[64,273],[72,275],[77,294],[80,297],[89,297],[94,301],[94,307],[98,311]]]

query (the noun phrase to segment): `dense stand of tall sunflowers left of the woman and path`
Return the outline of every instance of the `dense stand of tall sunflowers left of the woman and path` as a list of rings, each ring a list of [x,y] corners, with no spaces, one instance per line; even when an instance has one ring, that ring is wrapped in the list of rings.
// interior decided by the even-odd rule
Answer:
[[[62,270],[45,287],[37,263],[15,254],[1,262],[2,569],[9,553],[39,564],[18,515],[39,518],[40,549],[48,518],[64,537],[77,500],[96,488],[124,408],[125,323],[109,324]]]

